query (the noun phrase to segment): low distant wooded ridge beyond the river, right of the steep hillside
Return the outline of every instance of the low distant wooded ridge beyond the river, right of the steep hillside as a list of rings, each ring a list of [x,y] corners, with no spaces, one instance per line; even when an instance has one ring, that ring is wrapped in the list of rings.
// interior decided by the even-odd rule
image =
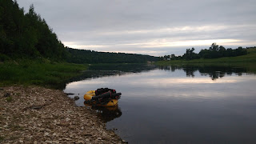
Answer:
[[[69,56],[67,62],[74,63],[142,63],[155,62],[158,57],[142,54],[124,54],[110,52],[96,52],[94,50],[68,49]]]

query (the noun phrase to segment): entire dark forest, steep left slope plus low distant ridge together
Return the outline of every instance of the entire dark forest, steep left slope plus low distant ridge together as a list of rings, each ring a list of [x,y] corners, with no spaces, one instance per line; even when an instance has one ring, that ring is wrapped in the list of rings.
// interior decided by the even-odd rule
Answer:
[[[6,58],[48,58],[74,63],[146,62],[157,57],[70,49],[58,40],[46,20],[34,11],[25,14],[18,2],[0,0],[0,61]]]

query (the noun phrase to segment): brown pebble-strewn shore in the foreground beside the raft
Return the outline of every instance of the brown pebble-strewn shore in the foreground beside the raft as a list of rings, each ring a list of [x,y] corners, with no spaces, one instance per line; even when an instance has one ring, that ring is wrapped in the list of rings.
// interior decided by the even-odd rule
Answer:
[[[0,88],[0,99],[0,143],[123,142],[61,90],[10,86]]]

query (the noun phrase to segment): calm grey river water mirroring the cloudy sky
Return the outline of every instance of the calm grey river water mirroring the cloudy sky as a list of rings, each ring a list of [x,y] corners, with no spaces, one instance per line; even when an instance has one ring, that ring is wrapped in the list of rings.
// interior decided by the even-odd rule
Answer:
[[[256,143],[255,74],[212,66],[131,71],[71,82],[64,91],[79,94],[78,106],[87,90],[121,92],[118,108],[98,111],[129,143]]]

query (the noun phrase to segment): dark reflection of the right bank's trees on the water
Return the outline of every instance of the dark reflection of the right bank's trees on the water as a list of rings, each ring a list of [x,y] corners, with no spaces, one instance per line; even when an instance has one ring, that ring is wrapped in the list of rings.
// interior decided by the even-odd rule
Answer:
[[[212,80],[222,78],[231,74],[238,74],[242,76],[242,73],[246,73],[246,68],[232,67],[232,66],[160,66],[161,70],[184,70],[187,77],[194,78],[194,72],[199,71],[201,75],[210,76]]]

